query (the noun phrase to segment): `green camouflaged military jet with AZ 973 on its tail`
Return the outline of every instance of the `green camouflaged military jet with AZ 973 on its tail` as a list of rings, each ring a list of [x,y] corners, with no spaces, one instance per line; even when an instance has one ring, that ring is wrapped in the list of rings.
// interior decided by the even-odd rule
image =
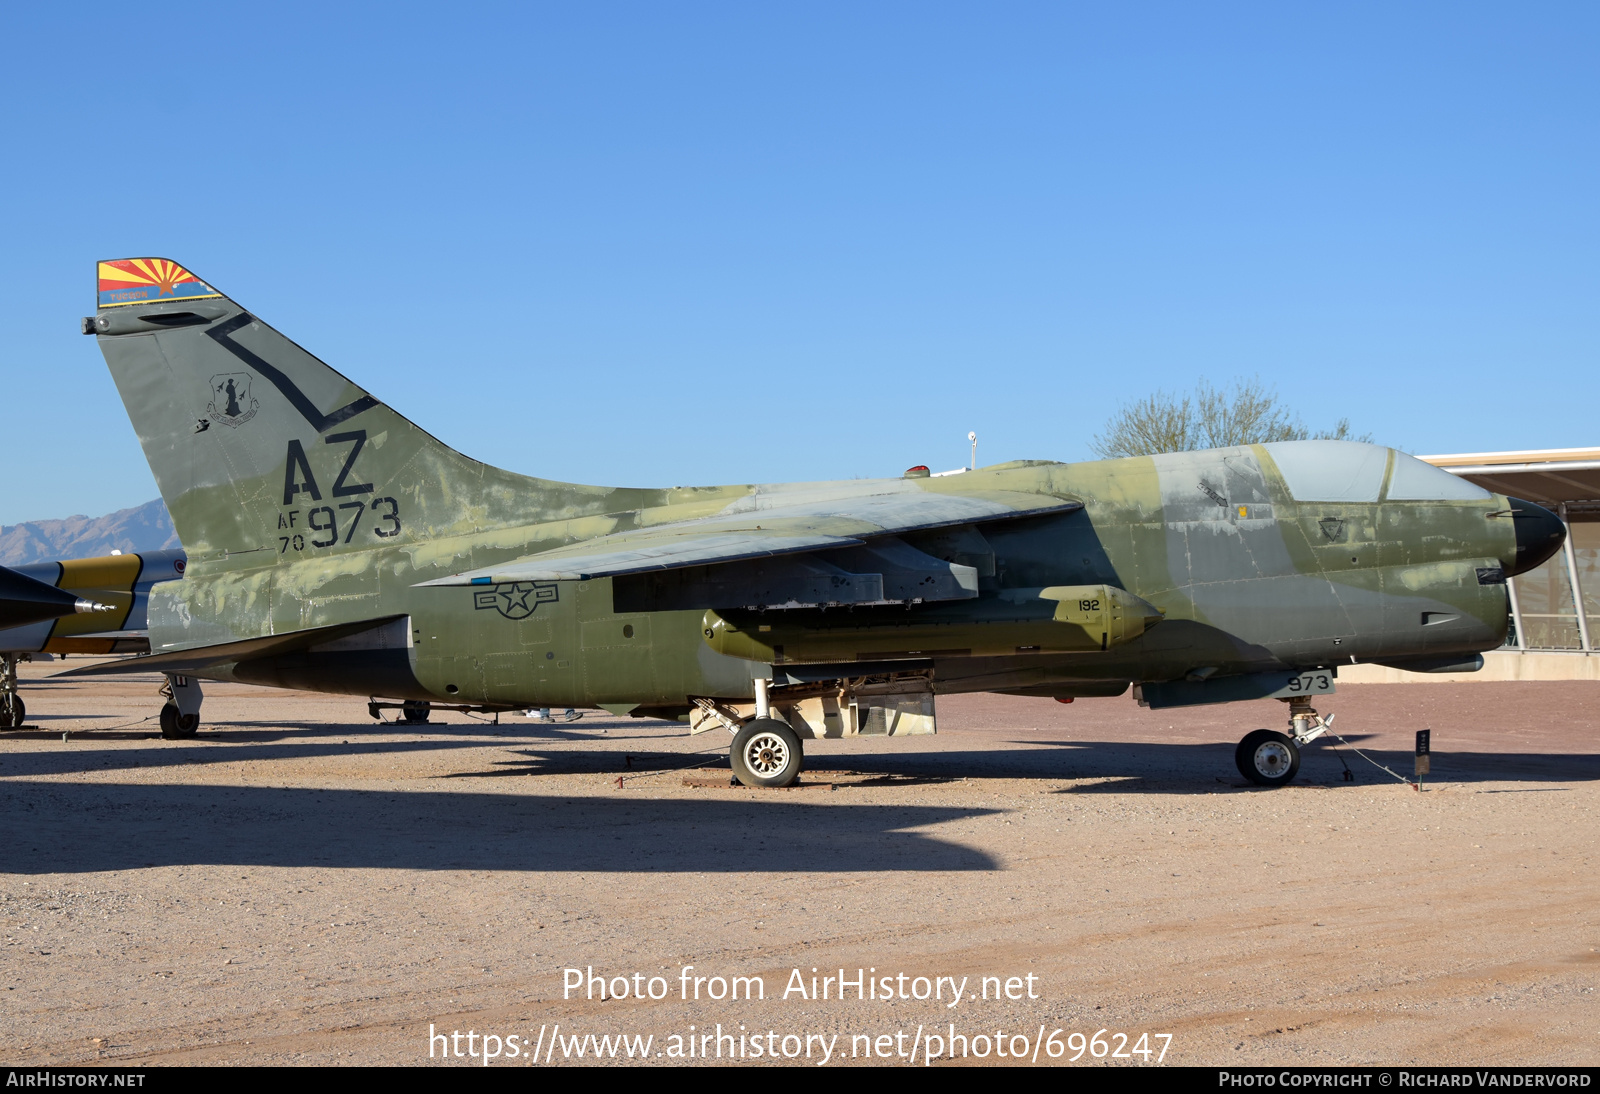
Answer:
[[[638,489],[469,459],[168,259],[99,264],[96,334],[189,552],[125,670],[482,709],[605,707],[731,733],[786,785],[803,741],[934,729],[934,699],[1280,697],[1238,747],[1294,777],[1339,665],[1470,670],[1506,576],[1563,537],[1390,448]],[[102,672],[117,669],[86,669]],[[198,685],[163,725],[192,733]]]

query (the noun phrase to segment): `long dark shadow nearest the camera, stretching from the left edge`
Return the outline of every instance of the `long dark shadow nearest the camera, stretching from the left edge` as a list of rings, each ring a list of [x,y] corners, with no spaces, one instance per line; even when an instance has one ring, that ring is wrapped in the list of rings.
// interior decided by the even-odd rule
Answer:
[[[995,809],[835,803],[818,811],[790,795],[755,792],[629,801],[6,781],[0,803],[0,860],[5,872],[24,875],[162,865],[582,873],[998,868],[981,851],[912,830]]]

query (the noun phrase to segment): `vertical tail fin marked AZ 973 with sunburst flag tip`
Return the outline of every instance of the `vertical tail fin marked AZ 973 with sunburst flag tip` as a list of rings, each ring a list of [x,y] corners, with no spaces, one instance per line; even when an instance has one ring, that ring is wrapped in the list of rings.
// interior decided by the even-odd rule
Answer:
[[[170,259],[101,262],[85,333],[195,563],[587,515],[616,493],[462,456]]]

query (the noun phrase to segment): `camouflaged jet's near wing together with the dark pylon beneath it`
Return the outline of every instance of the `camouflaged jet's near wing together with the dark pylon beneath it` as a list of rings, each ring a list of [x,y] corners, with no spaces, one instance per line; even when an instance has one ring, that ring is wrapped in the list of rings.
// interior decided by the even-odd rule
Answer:
[[[688,597],[693,603],[683,600],[688,593],[678,581],[666,600],[658,585],[656,593],[646,597],[650,606],[952,600],[978,595],[976,571],[930,557],[898,536],[1082,507],[1072,499],[1005,489],[944,494],[890,488],[874,494],[802,497],[757,493],[714,517],[598,536],[421,584],[589,581],[714,568],[699,571],[702,589]],[[758,565],[765,560],[781,565]],[[704,587],[707,582],[714,589]]]

